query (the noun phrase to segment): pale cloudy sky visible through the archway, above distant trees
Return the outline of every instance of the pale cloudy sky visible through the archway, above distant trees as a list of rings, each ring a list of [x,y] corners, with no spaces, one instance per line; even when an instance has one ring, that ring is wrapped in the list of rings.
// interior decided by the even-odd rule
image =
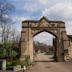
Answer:
[[[33,40],[40,42],[40,43],[45,43],[47,45],[52,45],[52,40],[53,40],[54,36],[51,35],[48,32],[41,32],[39,34],[37,34]]]

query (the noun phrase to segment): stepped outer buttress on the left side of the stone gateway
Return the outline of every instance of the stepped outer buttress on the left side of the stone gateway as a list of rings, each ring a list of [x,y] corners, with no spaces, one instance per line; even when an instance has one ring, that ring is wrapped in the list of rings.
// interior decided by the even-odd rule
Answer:
[[[25,59],[25,55],[29,55],[29,49],[28,49],[28,28],[23,28],[21,33],[21,60]]]

